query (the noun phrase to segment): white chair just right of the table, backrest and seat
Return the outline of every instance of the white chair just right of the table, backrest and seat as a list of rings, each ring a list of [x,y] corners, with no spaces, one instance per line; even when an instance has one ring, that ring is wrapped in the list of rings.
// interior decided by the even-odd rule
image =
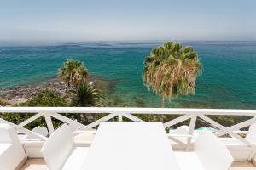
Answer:
[[[194,152],[175,152],[181,170],[228,170],[233,157],[225,145],[212,133],[202,132]]]

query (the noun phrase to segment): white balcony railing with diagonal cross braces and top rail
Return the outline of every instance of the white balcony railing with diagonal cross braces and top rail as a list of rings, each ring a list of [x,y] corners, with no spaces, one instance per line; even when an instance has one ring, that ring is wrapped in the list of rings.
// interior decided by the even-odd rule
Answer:
[[[218,130],[214,132],[218,137],[224,135],[230,135],[234,139],[237,139],[241,143],[245,144],[247,147],[251,148],[252,155],[254,156],[256,146],[251,141],[248,141],[246,138],[242,138],[238,133],[247,133],[244,131],[240,131],[241,128],[249,127],[253,123],[256,122],[256,110],[224,110],[224,109],[170,109],[170,108],[109,108],[109,107],[0,107],[0,113],[9,114],[9,113],[34,113],[33,116],[26,119],[24,122],[20,122],[20,124],[14,124],[12,122],[8,122],[7,120],[3,120],[0,118],[0,122],[9,123],[11,126],[15,127],[15,129],[20,132],[26,134],[28,137],[33,139],[38,139],[40,141],[45,141],[47,137],[40,135],[38,133],[32,132],[25,128],[25,126],[35,121],[41,116],[44,116],[49,135],[55,131],[53,126],[52,118],[60,120],[61,122],[66,122],[70,126],[74,127],[77,130],[84,131],[90,130],[97,127],[101,122],[107,122],[114,117],[117,117],[116,120],[119,122],[123,121],[123,117],[126,117],[134,122],[144,122],[142,119],[138,118],[136,115],[180,115],[175,119],[164,122],[164,126],[172,127],[177,123],[190,120],[189,121],[189,133],[186,135],[180,135],[183,137],[187,137],[187,142],[184,143],[177,136],[169,136],[174,142],[177,144],[185,144],[189,147],[191,144],[192,134],[195,130],[195,123],[198,118],[204,120],[205,122],[212,125],[212,127],[217,128]],[[107,116],[103,116],[102,118],[96,120],[95,122],[91,122],[88,125],[84,125],[76,120],[72,120],[67,118],[66,116],[61,115],[61,113],[81,113],[81,114],[108,114]],[[244,122],[238,122],[230,127],[224,127],[224,125],[215,122],[209,116],[250,116]],[[238,133],[237,133],[238,131]],[[179,136],[179,137],[180,137]],[[238,147],[238,146],[237,146]]]

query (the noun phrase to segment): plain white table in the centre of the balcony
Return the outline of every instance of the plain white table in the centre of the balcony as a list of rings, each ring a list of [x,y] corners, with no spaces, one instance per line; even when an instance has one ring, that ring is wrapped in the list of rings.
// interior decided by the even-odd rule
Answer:
[[[102,122],[83,170],[178,170],[160,122]]]

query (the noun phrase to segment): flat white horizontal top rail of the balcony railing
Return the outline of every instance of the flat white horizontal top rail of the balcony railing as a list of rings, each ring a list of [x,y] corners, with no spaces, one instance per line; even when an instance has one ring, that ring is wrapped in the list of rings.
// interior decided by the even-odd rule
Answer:
[[[7,113],[116,113],[116,114],[168,114],[168,115],[224,115],[256,116],[256,110],[185,109],[185,108],[134,108],[134,107],[1,107]]]

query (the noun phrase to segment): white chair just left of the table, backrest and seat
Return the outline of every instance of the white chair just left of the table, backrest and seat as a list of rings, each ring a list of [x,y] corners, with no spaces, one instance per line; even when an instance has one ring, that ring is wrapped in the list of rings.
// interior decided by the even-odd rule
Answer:
[[[49,170],[73,170],[82,166],[88,150],[75,147],[72,131],[64,124],[50,135],[41,152]]]

